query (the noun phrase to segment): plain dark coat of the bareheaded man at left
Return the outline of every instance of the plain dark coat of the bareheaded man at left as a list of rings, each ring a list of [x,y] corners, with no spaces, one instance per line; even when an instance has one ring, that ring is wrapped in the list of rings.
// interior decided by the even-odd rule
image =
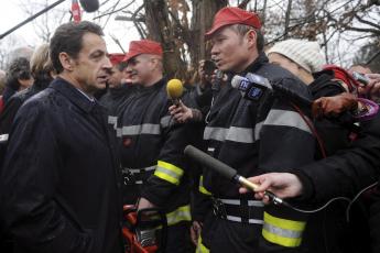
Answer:
[[[0,176],[15,252],[120,252],[117,162],[101,109],[57,78],[19,110]]]

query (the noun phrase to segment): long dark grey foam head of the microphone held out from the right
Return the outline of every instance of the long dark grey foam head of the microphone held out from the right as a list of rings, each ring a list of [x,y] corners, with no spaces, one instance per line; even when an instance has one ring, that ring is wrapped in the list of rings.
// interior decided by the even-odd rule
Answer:
[[[235,180],[235,176],[237,175],[237,170],[231,168],[225,163],[221,163],[219,160],[214,158],[213,156],[206,154],[205,152],[192,146],[187,145],[184,151],[185,155],[195,160],[199,164],[214,169],[215,172],[219,173],[224,177],[230,180]]]

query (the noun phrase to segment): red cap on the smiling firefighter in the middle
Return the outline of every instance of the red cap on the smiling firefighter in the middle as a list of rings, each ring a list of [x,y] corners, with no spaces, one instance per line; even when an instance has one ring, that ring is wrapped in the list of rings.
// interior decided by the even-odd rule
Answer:
[[[160,55],[162,56],[162,47],[161,44],[158,42],[142,40],[142,41],[131,41],[129,43],[129,52],[127,53],[123,62],[128,62],[134,56],[141,54],[151,54],[151,55]]]

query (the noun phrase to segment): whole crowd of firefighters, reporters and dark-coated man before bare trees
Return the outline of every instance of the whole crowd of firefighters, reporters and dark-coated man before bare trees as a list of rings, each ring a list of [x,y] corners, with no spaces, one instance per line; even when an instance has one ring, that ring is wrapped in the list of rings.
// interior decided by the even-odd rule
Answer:
[[[267,48],[258,14],[227,7],[177,100],[159,42],[109,54],[102,35],[62,24],[0,72],[2,252],[130,252],[130,205],[165,217],[160,252],[380,251],[380,74],[326,65],[317,42]]]

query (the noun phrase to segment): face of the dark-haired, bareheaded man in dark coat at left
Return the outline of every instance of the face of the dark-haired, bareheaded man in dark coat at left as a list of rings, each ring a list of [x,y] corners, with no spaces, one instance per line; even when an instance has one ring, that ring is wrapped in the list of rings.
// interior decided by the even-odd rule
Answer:
[[[107,47],[104,38],[95,33],[83,36],[83,47],[74,59],[73,76],[83,91],[94,94],[105,89],[112,67],[107,57]]]

